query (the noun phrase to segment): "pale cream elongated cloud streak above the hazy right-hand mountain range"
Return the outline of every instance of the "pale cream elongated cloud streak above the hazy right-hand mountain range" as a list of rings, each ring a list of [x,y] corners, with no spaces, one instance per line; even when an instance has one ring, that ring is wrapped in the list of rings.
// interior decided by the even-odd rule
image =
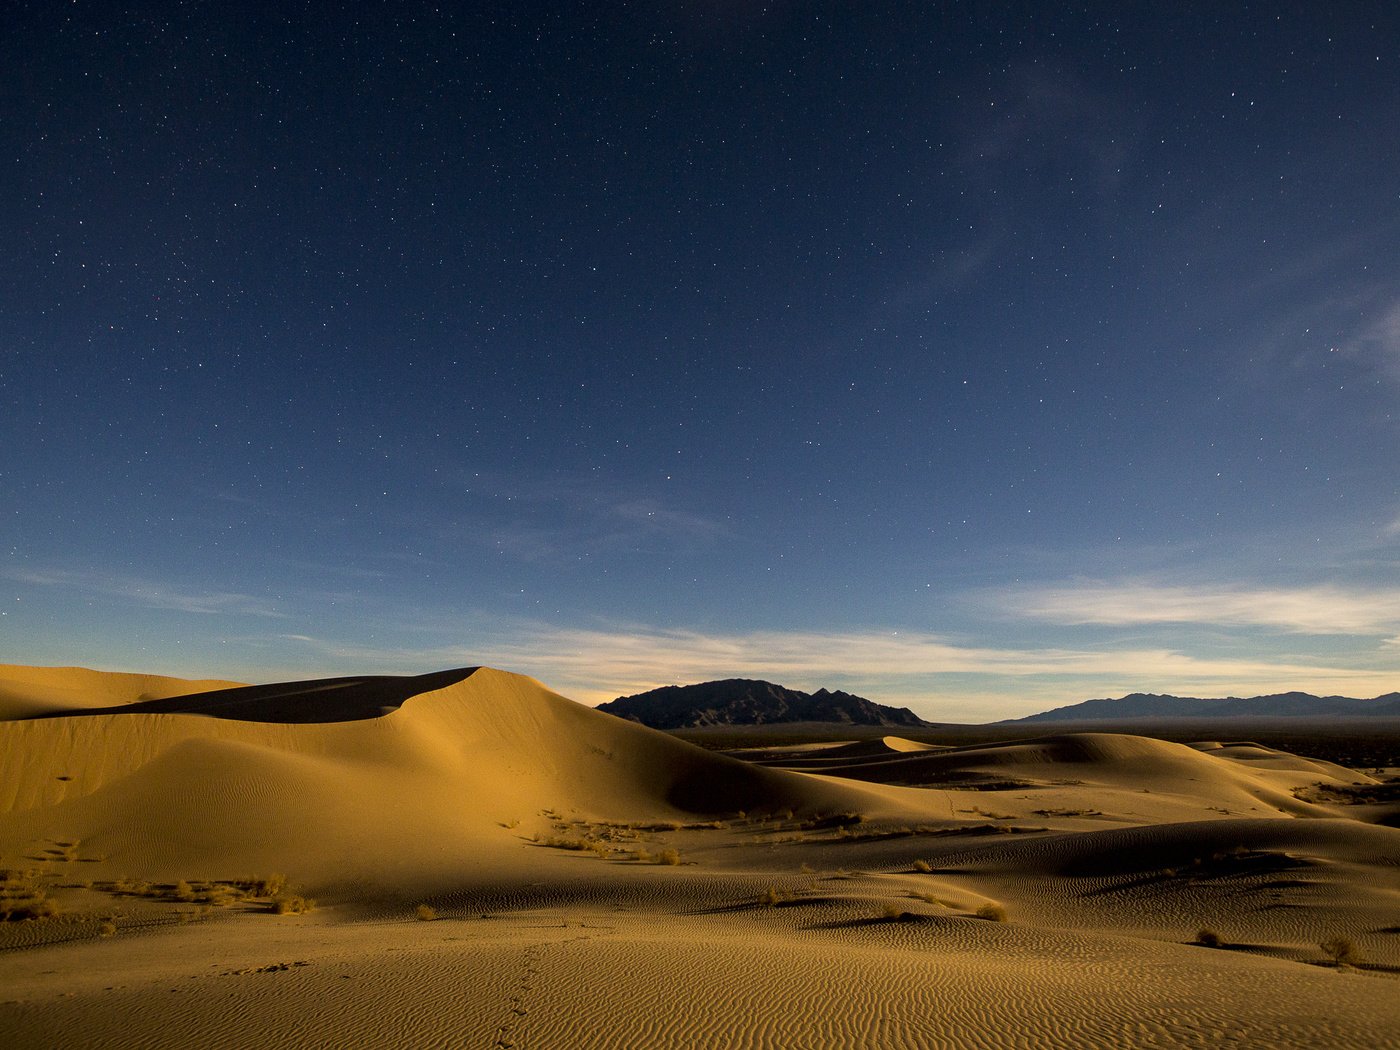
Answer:
[[[1002,612],[1050,623],[1267,627],[1298,634],[1380,636],[1400,627],[1400,588],[1180,587],[1086,581],[1001,591]]]

